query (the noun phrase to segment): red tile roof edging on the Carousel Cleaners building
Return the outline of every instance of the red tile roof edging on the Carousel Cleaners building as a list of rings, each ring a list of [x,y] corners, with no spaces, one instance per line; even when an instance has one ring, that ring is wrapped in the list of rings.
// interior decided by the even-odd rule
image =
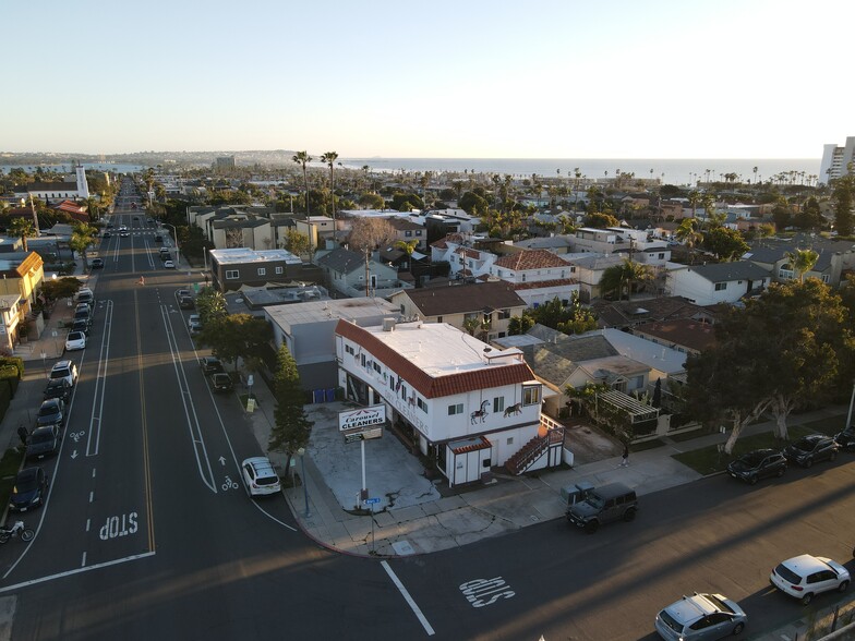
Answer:
[[[439,398],[534,380],[534,373],[525,362],[509,365],[485,364],[481,370],[434,377],[358,325],[339,320],[336,334],[365,348],[424,398]]]

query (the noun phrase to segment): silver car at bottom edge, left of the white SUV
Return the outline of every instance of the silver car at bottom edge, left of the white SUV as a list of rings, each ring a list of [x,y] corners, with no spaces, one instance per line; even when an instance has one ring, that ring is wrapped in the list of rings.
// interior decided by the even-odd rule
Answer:
[[[657,615],[655,628],[666,641],[724,639],[745,629],[747,615],[721,594],[683,596]]]

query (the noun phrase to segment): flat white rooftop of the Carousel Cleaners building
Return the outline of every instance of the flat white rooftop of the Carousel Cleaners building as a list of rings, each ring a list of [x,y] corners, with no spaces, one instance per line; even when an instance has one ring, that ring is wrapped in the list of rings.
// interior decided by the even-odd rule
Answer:
[[[399,323],[392,331],[377,325],[363,329],[433,377],[522,362],[519,350],[491,348],[447,323]]]

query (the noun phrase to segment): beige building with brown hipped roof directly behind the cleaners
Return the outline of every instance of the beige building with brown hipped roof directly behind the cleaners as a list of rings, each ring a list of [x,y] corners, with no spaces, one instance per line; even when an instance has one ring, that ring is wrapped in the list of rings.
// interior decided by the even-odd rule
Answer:
[[[477,320],[474,335],[485,336],[487,342],[507,336],[510,318],[521,316],[527,307],[504,280],[411,289],[392,294],[389,301],[399,305],[401,316],[409,319],[447,323],[463,331],[467,322]]]

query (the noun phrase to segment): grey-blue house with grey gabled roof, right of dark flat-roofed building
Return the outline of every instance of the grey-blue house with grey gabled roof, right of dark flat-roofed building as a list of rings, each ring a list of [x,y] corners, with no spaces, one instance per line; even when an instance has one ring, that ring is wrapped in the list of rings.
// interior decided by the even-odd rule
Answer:
[[[328,288],[348,298],[384,298],[399,289],[412,287],[412,282],[399,278],[395,267],[380,263],[374,256],[370,256],[366,263],[362,252],[345,247],[318,253],[315,264],[323,270]]]

